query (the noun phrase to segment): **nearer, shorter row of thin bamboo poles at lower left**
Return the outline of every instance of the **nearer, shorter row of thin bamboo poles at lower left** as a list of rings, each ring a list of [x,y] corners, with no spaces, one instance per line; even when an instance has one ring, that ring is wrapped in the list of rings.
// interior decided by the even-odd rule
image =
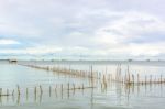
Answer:
[[[16,98],[16,102],[20,103],[20,99],[22,99],[21,97],[28,100],[29,96],[32,98],[33,95],[34,99],[36,100],[37,98],[41,99],[44,94],[45,96],[48,95],[50,97],[52,97],[52,95],[54,94],[56,97],[61,96],[63,99],[64,95],[67,95],[67,98],[69,98],[69,96],[72,96],[72,94],[75,95],[76,91],[79,92],[81,90],[81,92],[84,94],[85,90],[94,88],[96,87],[85,86],[84,84],[76,85],[70,83],[68,83],[67,85],[56,84],[47,88],[45,88],[45,86],[43,87],[42,85],[29,88],[20,88],[20,86],[18,85],[14,89],[0,88],[0,102],[2,101],[2,98],[7,97],[7,99],[9,99],[9,97],[11,97],[12,99]]]

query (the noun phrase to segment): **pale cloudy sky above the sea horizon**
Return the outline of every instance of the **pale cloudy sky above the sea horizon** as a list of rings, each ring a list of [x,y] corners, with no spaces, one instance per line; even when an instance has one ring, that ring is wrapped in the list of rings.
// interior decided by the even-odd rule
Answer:
[[[0,58],[165,59],[165,0],[0,0]]]

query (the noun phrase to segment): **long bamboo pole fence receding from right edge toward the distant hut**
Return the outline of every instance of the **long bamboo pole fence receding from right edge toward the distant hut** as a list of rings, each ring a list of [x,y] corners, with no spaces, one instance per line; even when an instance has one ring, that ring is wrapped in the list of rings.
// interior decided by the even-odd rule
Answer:
[[[23,64],[20,64],[20,65],[23,65]],[[107,83],[109,81],[116,81],[116,83],[121,83],[125,85],[165,84],[165,78],[163,77],[163,75],[160,75],[160,77],[157,76],[154,77],[153,75],[145,75],[145,77],[143,77],[139,73],[132,74],[130,72],[129,65],[128,65],[125,73],[123,74],[121,64],[117,65],[117,72],[113,74],[107,73],[107,68],[106,68],[106,73],[94,70],[92,65],[90,66],[89,70],[78,70],[78,69],[72,69],[70,67],[69,68],[48,67],[48,66],[40,66],[40,65],[23,65],[23,66],[62,73],[64,75],[73,75],[76,77],[90,78],[90,79],[95,79],[95,81],[101,80],[101,83],[105,84],[105,86],[107,86]]]

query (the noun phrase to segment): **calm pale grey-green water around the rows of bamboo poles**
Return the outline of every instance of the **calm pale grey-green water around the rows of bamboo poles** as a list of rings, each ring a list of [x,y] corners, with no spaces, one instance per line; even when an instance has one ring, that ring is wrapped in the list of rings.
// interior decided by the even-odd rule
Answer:
[[[165,62],[19,62],[40,66],[59,66],[73,69],[94,70],[114,74],[121,64],[124,74],[128,65],[133,74],[165,75]],[[0,63],[0,88],[3,94],[13,96],[0,97],[1,109],[164,109],[165,84],[141,85],[127,87],[119,83],[108,83],[107,88],[101,81],[95,81],[95,88],[78,89],[91,86],[88,78],[79,78],[61,73],[30,68],[8,62]],[[68,84],[70,90],[68,90]],[[19,85],[21,95],[16,92]],[[63,90],[62,90],[63,85]],[[74,87],[77,88],[72,90]],[[43,94],[38,86],[42,86]],[[51,86],[51,91],[50,91]],[[36,92],[35,92],[36,87]],[[28,89],[28,94],[26,94]]]

